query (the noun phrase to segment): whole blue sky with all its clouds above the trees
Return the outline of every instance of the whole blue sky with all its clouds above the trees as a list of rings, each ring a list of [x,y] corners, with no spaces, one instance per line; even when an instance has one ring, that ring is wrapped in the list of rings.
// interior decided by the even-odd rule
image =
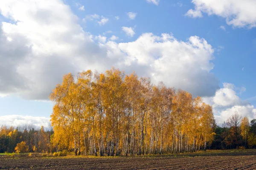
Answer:
[[[0,1],[0,125],[49,125],[62,76],[112,66],[256,119],[255,0]]]

